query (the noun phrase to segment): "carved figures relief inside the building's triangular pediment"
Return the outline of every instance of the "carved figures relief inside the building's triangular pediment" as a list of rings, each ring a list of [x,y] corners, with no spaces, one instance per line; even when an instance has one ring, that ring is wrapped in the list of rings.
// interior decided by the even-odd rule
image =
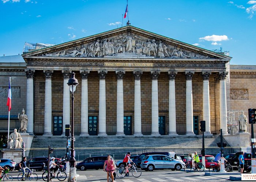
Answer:
[[[171,59],[211,59],[209,56],[183,50],[171,46],[163,40],[147,39],[133,33],[97,39],[91,43],[82,44],[58,52],[43,53],[46,57],[95,57],[108,56],[140,56],[147,58]]]

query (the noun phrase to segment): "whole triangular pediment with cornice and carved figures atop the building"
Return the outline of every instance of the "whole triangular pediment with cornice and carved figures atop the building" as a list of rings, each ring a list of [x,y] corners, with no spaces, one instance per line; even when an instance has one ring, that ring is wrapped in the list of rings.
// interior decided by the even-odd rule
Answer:
[[[226,59],[217,54],[133,26],[117,28],[56,46],[23,54],[23,57]]]

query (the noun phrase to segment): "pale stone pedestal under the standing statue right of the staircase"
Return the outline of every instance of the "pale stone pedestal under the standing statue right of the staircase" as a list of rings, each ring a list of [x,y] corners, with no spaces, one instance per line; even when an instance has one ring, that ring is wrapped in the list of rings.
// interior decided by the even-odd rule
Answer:
[[[250,133],[237,133],[236,135],[223,135],[227,143],[232,147],[251,146]]]

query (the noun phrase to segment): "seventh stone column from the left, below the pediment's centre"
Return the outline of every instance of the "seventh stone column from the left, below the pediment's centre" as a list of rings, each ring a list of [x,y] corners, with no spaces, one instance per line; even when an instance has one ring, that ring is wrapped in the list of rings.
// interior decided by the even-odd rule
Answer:
[[[142,136],[141,132],[141,98],[140,98],[140,77],[143,71],[133,71],[134,75],[134,134]]]

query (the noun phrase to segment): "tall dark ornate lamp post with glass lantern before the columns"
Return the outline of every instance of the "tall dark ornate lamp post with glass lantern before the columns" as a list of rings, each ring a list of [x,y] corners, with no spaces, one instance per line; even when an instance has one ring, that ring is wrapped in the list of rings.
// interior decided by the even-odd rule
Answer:
[[[75,78],[75,73],[71,73],[71,78],[68,80],[68,86],[70,88],[70,91],[72,92],[72,116],[71,116],[71,150],[70,150],[70,166],[76,167],[75,164],[75,148],[74,148],[74,92],[76,90],[76,86],[79,84],[78,80]]]

